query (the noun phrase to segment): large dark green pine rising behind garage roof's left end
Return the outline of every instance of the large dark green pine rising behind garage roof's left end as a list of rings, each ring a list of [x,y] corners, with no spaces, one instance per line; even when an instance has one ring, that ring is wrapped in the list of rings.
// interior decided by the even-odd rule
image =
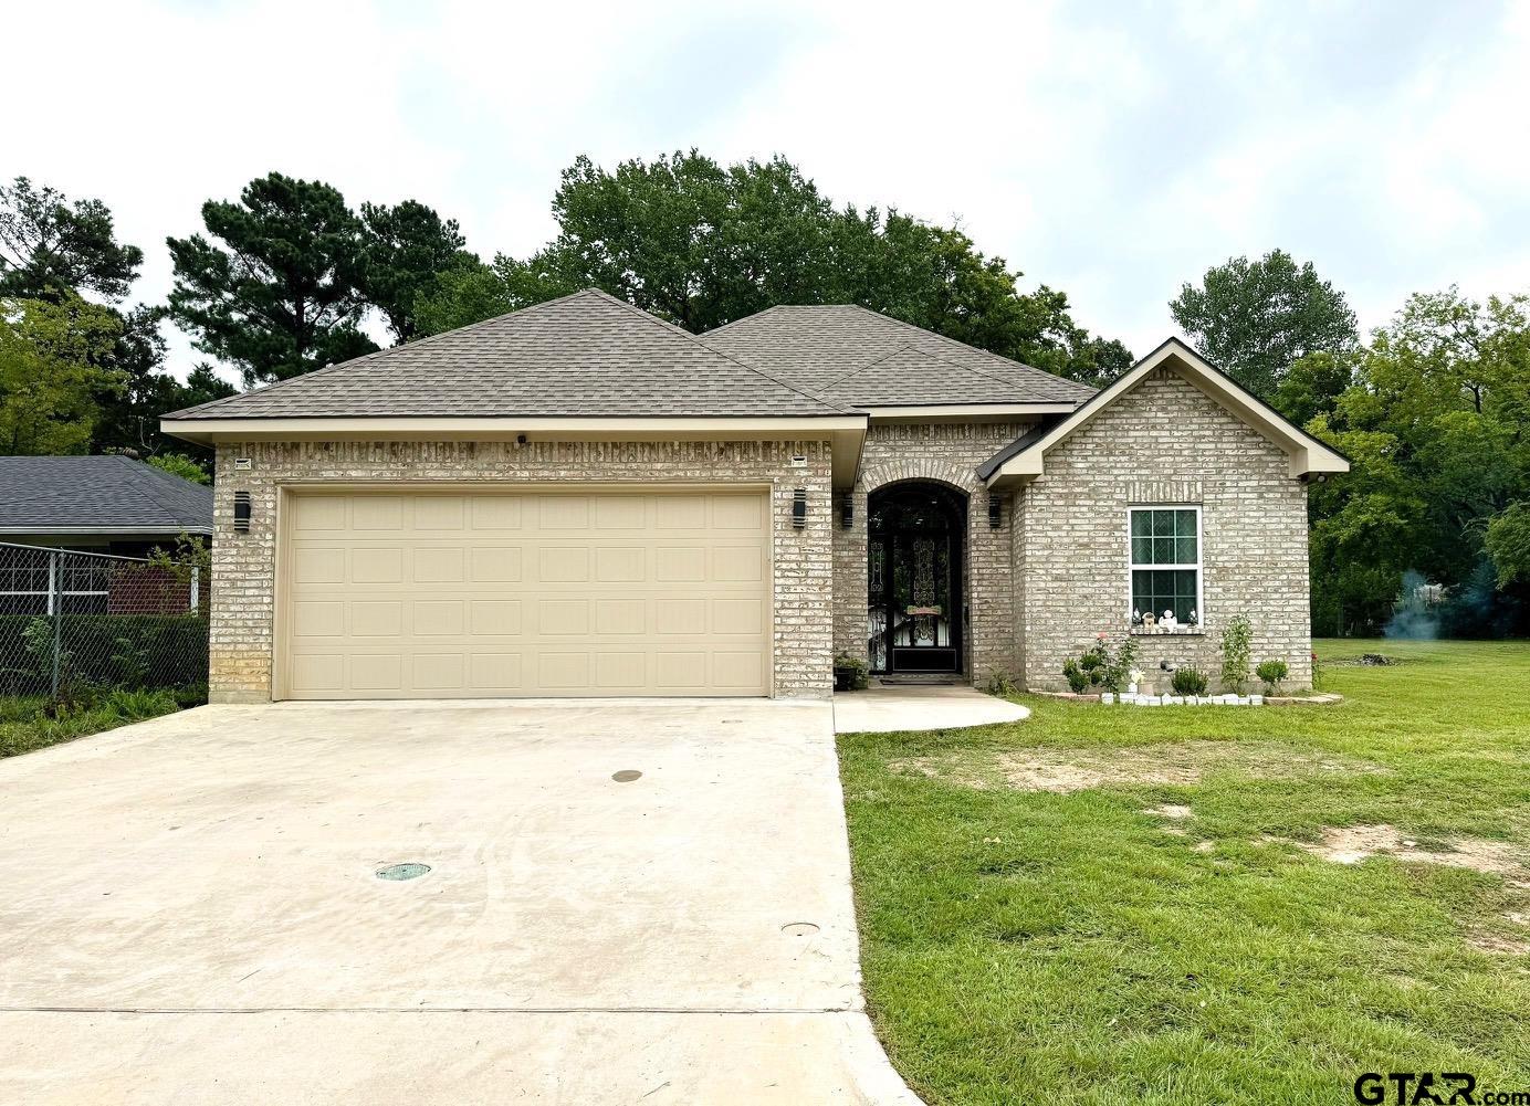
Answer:
[[[200,234],[167,239],[174,262],[170,315],[199,350],[245,382],[280,381],[370,353],[366,239],[344,197],[280,173],[251,181],[237,203],[208,200]]]

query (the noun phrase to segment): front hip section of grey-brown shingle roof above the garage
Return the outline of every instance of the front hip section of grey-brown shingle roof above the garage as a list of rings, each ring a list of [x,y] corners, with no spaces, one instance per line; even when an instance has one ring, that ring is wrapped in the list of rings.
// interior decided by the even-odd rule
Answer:
[[[168,419],[845,415],[595,289]]]

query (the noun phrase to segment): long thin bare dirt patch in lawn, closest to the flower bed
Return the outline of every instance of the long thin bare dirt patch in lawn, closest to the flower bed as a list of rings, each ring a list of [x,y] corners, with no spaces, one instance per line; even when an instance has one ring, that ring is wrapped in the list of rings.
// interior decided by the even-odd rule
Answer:
[[[1111,750],[1034,748],[1002,753],[991,773],[944,757],[909,757],[889,763],[895,773],[929,776],[968,788],[1008,786],[1066,794],[1123,783],[1186,786],[1215,771],[1279,777],[1314,773],[1385,773],[1380,765],[1328,756],[1279,742],[1161,742]]]

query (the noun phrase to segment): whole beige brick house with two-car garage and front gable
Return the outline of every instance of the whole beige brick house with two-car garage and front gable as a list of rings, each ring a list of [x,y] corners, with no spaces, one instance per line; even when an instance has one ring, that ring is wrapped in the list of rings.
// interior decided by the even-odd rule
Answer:
[[[838,652],[1047,688],[1097,633],[1215,672],[1235,613],[1300,685],[1307,482],[1348,467],[1175,340],[1095,392],[861,307],[696,337],[597,291],[164,430],[217,448],[225,702],[826,696]]]

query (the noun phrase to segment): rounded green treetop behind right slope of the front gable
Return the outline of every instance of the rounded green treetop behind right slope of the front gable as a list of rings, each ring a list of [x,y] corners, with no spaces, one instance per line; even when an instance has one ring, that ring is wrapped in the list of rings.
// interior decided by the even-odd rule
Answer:
[[[1265,399],[1297,358],[1345,353],[1359,341],[1343,292],[1282,249],[1212,266],[1169,312],[1209,361]]]

